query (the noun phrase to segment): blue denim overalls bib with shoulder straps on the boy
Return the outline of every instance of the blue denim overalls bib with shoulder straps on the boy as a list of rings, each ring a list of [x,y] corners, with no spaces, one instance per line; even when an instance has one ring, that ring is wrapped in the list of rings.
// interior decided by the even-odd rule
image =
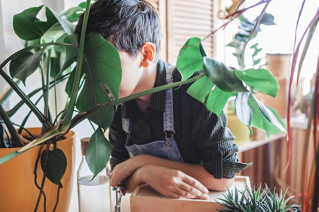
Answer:
[[[172,73],[175,66],[166,68],[166,82],[172,83]],[[125,147],[130,157],[134,157],[140,154],[147,154],[156,156],[159,158],[165,158],[173,161],[183,162],[182,157],[177,148],[177,144],[173,135],[174,131],[174,117],[173,117],[173,91],[172,88],[166,89],[166,101],[165,101],[165,112],[163,113],[164,118],[164,133],[165,140],[153,141],[147,144],[134,144],[129,137],[131,131],[131,122],[128,118],[122,117],[122,128],[126,132],[127,139]],[[167,132],[172,132],[171,138],[167,137]]]

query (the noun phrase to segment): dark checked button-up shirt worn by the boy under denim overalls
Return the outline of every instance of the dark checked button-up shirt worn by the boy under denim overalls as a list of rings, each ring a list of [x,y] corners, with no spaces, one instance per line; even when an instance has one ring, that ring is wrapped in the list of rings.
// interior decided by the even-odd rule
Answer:
[[[166,84],[166,66],[167,63],[159,60],[155,87]],[[173,81],[180,80],[180,73],[175,70]],[[217,115],[209,112],[201,102],[187,94],[189,86],[190,84],[186,84],[173,88],[173,137],[179,153],[185,163],[202,163],[215,178],[232,178],[251,164],[239,162],[238,146],[233,143],[234,137],[228,128],[224,127],[227,125],[226,115],[222,113],[219,119]],[[132,122],[130,138],[135,144],[165,139],[165,97],[165,90],[154,93],[145,113],[137,108],[135,100],[119,105],[109,134],[112,168],[129,158],[125,148],[126,133],[122,129],[122,116]]]

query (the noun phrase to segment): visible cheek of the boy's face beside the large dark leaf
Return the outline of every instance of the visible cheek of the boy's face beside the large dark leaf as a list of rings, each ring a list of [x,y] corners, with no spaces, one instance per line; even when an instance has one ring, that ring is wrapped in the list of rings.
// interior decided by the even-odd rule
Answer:
[[[122,65],[122,79],[120,84],[119,97],[127,97],[134,93],[134,90],[139,83],[142,70],[141,70],[141,56],[132,58],[131,55],[124,51],[119,51]]]

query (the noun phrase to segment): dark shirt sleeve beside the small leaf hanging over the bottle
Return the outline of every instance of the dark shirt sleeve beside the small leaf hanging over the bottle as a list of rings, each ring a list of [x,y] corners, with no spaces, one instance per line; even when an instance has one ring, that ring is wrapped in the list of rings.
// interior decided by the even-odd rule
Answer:
[[[111,170],[113,170],[113,168],[117,164],[129,159],[128,152],[125,148],[126,133],[122,129],[122,116],[120,105],[114,114],[114,119],[109,129],[109,139],[112,149],[110,165]]]

